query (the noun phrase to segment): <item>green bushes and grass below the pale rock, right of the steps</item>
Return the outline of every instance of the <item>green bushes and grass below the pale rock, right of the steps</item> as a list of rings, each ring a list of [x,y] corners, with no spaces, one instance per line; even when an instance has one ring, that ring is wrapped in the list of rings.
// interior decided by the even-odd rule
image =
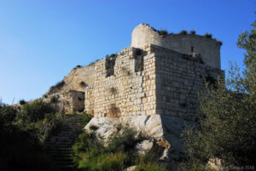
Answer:
[[[164,170],[156,164],[155,158],[149,157],[153,153],[148,153],[147,157],[139,157],[133,151],[141,140],[136,138],[136,134],[134,128],[120,128],[118,134],[109,138],[108,145],[103,145],[94,131],[80,134],[73,145],[74,162],[77,163],[78,170],[120,171],[136,164],[139,170]]]

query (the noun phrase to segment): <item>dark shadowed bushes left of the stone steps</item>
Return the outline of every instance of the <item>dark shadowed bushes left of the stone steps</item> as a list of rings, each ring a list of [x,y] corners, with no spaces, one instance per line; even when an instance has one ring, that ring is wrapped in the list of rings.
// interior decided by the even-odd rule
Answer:
[[[0,170],[57,170],[38,139],[15,123],[17,112],[0,103]]]

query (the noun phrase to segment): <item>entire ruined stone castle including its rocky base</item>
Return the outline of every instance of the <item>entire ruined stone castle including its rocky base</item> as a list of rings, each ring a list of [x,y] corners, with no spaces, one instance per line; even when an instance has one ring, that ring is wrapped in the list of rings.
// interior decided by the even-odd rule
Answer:
[[[84,111],[94,117],[85,129],[107,139],[119,125],[137,128],[167,142],[161,161],[177,170],[183,158],[183,128],[196,123],[198,93],[223,75],[221,43],[194,34],[163,34],[141,24],[131,46],[89,66],[75,67],[49,89],[60,111]]]

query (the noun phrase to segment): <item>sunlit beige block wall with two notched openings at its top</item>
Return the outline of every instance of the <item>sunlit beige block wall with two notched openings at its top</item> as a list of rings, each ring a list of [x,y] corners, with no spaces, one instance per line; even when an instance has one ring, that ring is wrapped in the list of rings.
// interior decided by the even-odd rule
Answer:
[[[137,63],[141,61],[141,69]],[[155,59],[147,50],[124,48],[116,57],[114,74],[107,76],[106,59],[96,62],[95,83],[85,90],[85,112],[95,117],[155,114]],[[138,70],[138,71],[137,71]]]

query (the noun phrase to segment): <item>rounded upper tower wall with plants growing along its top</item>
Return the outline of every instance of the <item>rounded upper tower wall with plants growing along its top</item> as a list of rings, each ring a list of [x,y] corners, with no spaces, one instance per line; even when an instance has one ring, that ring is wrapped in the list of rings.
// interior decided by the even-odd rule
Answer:
[[[149,43],[182,54],[190,54],[191,48],[193,48],[194,53],[201,54],[201,58],[208,66],[220,69],[219,49],[221,43],[212,38],[191,34],[160,35],[158,31],[148,25],[137,26],[131,34],[131,47],[143,48]]]

